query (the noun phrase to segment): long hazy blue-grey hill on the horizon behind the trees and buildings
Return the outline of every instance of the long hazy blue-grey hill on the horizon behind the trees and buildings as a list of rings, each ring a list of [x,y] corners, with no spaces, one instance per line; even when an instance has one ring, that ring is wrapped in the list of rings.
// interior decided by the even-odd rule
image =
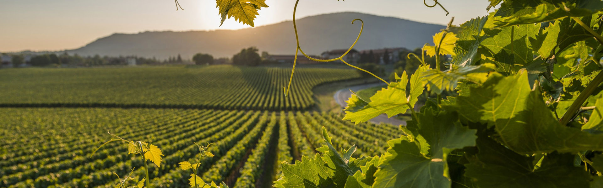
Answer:
[[[443,25],[363,13],[320,14],[297,20],[301,47],[309,54],[349,48],[360,28],[359,22],[350,24],[356,18],[365,23],[364,32],[355,47],[358,50],[389,47],[414,49],[431,42],[431,36],[444,28]],[[214,57],[232,57],[249,46],[257,46],[260,51],[270,54],[293,54],[295,35],[292,22],[241,30],[116,33],[68,52],[80,55],[138,55],[159,59],[180,54],[188,59],[198,52]]]

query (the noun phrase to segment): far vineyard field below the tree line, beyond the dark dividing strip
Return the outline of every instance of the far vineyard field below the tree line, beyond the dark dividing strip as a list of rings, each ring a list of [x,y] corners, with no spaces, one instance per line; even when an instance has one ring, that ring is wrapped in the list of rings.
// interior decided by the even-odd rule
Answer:
[[[0,107],[153,107],[306,110],[312,87],[358,78],[352,69],[135,67],[0,70]]]

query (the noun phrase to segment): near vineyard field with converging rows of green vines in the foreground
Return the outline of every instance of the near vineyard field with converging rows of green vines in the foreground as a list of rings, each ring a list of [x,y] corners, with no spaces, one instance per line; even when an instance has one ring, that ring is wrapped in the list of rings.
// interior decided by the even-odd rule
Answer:
[[[188,187],[178,162],[198,157],[197,143],[213,143],[215,157],[201,161],[200,177],[230,187],[268,187],[280,161],[313,155],[326,127],[336,147],[358,146],[356,155],[384,152],[401,132],[391,125],[342,121],[339,114],[294,111],[150,108],[0,108],[0,187],[113,187],[118,175],[144,176],[142,160],[107,130],[162,149],[150,166],[153,187]],[[19,133],[19,134],[15,134]]]

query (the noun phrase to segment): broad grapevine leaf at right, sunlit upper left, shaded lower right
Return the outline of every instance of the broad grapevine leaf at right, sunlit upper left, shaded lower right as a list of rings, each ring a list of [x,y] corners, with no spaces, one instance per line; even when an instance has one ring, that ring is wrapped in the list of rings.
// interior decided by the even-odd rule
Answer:
[[[456,108],[469,121],[494,127],[496,139],[520,154],[602,150],[603,135],[560,125],[537,90],[529,86],[528,73],[513,77],[491,76],[470,94],[458,96]]]

